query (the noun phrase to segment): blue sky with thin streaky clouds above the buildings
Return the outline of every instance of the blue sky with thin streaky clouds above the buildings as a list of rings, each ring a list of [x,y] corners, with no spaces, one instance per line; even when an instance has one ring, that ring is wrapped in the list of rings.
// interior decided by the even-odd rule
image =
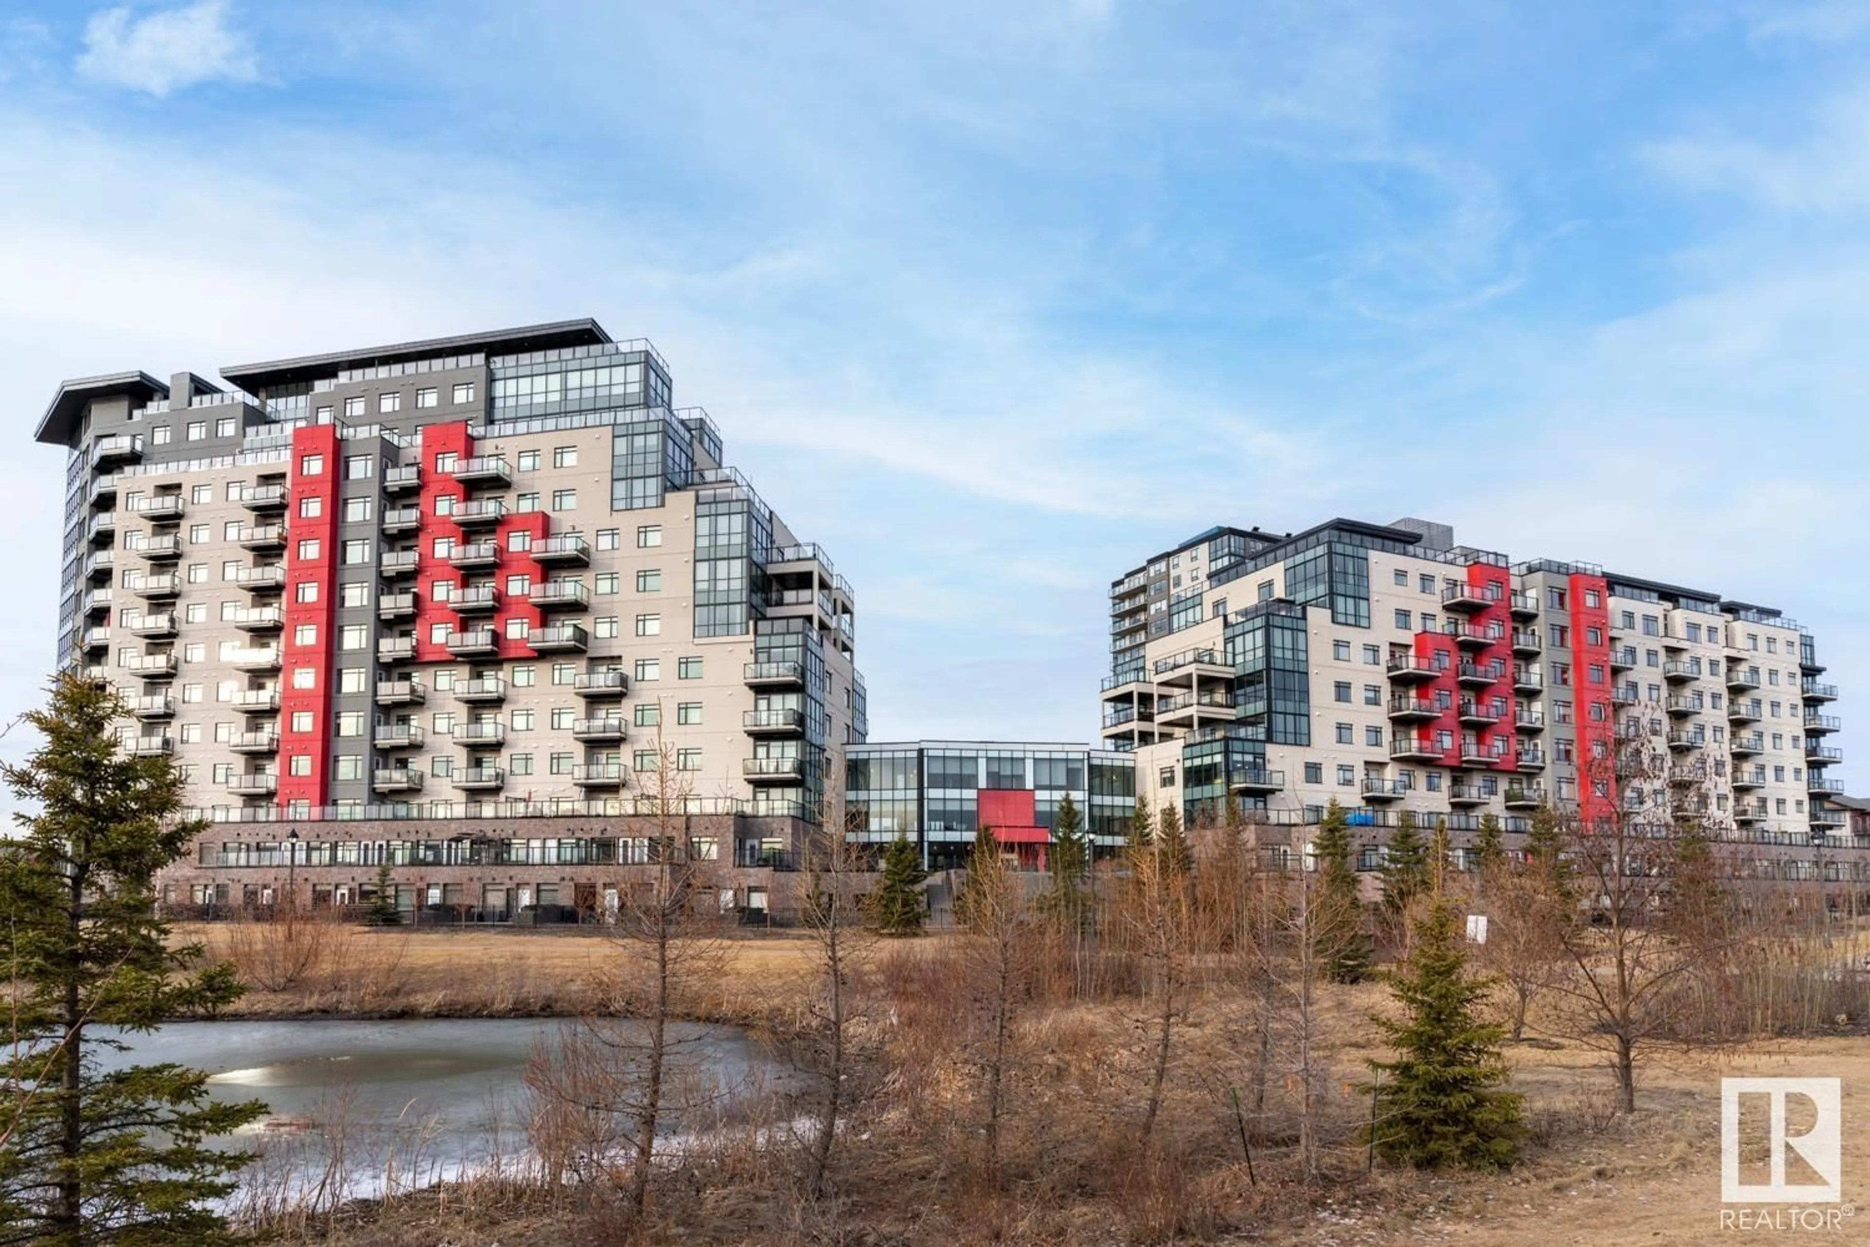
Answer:
[[[1849,692],[1866,49],[1827,2],[15,4],[0,707],[60,378],[567,316],[830,548],[873,738],[1090,738],[1111,578],[1331,514],[1782,606]]]

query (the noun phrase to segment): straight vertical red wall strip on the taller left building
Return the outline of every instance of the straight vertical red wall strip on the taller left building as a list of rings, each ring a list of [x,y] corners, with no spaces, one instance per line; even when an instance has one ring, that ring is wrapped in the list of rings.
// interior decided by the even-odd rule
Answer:
[[[305,458],[309,454],[320,456],[322,471],[316,475],[305,475]],[[331,617],[337,608],[333,598],[337,596],[335,570],[338,563],[338,464],[337,424],[301,424],[292,430],[290,507],[286,512],[286,628],[280,638],[286,673],[279,681],[280,806],[294,800],[312,806],[327,804],[331,694],[335,692],[331,688],[331,654],[337,645],[337,638],[331,636]],[[301,514],[301,499],[307,497],[324,499],[316,516],[307,518]],[[303,540],[318,542],[316,559],[299,557],[299,542]],[[299,585],[303,583],[318,585],[318,598],[314,602],[299,600]],[[292,641],[301,624],[318,628],[318,639],[303,649]],[[310,688],[292,686],[294,667],[312,669]],[[294,731],[294,714],[310,714],[310,727],[307,731]],[[297,753],[312,759],[310,774],[290,774],[292,765],[286,759]]]

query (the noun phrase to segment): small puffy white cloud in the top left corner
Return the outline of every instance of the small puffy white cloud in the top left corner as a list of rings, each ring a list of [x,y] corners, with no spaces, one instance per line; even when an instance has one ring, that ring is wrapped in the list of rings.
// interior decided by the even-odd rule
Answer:
[[[224,0],[198,0],[137,19],[129,7],[94,13],[84,26],[77,71],[95,82],[155,97],[200,82],[252,82],[258,67],[247,39],[226,24]]]

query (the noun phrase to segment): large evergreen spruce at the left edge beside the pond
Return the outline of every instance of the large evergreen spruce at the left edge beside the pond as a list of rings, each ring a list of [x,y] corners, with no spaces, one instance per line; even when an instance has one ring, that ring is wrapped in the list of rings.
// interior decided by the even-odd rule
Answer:
[[[213,1202],[247,1152],[208,1140],[258,1120],[221,1105],[208,1075],[176,1064],[105,1071],[105,1028],[150,1032],[239,998],[230,967],[189,968],[170,948],[153,879],[202,823],[180,819],[183,780],[166,757],[129,757],[127,716],[105,684],[60,675],[26,714],[43,744],[0,768],[21,806],[0,845],[0,965],[13,980],[0,1054],[0,1240],[34,1243],[230,1241]]]

